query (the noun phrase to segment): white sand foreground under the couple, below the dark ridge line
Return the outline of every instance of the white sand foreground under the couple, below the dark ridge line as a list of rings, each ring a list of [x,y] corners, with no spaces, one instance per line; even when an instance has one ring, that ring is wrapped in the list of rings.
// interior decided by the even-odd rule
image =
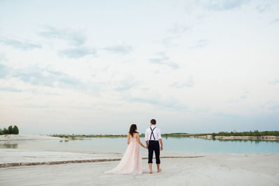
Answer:
[[[279,185],[279,154],[202,154],[162,159],[161,173],[107,175],[118,162],[0,168],[0,185]],[[155,168],[155,166],[154,166]]]

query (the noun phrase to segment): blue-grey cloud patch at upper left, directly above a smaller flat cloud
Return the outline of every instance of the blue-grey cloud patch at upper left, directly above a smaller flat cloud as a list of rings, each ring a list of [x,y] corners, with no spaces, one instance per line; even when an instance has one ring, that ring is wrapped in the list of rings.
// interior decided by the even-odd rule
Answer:
[[[65,40],[75,46],[83,45],[86,41],[84,33],[73,28],[57,29],[54,26],[45,26],[45,31],[39,32],[38,35],[44,38]]]

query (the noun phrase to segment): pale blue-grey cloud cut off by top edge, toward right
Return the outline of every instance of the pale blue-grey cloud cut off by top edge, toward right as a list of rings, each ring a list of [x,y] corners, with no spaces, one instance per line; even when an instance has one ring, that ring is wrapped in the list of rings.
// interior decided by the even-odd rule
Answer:
[[[201,1],[204,8],[214,11],[232,10],[240,8],[250,0],[208,0]]]

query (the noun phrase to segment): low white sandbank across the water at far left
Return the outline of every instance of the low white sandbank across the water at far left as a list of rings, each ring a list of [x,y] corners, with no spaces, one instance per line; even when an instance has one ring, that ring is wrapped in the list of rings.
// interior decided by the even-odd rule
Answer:
[[[43,134],[6,134],[0,135],[0,141],[10,141],[10,140],[39,140],[39,139],[60,139],[60,137],[50,137]]]

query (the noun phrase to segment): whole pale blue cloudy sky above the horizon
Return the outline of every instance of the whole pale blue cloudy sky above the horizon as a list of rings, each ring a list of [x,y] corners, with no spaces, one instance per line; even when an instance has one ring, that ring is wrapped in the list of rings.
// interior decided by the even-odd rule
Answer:
[[[279,1],[0,1],[0,128],[279,130]]]

